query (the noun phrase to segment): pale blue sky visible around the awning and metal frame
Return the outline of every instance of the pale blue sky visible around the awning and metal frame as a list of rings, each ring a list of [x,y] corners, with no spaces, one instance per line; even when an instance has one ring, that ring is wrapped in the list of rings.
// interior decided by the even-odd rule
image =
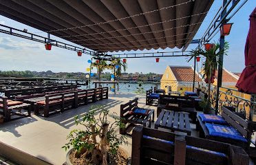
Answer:
[[[215,0],[211,10],[204,19],[204,23],[200,27],[200,30],[195,35],[194,39],[200,39],[210,21],[213,19],[216,10],[220,8],[222,1]],[[246,42],[246,36],[249,28],[248,17],[253,9],[256,7],[255,0],[248,0],[239,12],[231,19],[233,27],[231,34],[226,37],[226,41],[230,44],[230,50],[228,56],[224,56],[224,67],[231,72],[242,72],[244,69],[244,45]],[[28,32],[39,32],[27,25],[13,21],[0,15],[0,23],[8,26],[12,26],[17,29],[28,29]],[[213,41],[218,41],[217,34]],[[54,39],[58,39],[54,37]],[[58,39],[63,41],[61,39]],[[67,41],[65,41],[67,42]],[[68,43],[68,42],[67,42]],[[190,45],[187,50],[195,48],[195,44]],[[165,50],[146,50],[136,52],[168,52],[176,51],[178,49],[165,49]],[[134,53],[130,52],[117,52],[120,53]],[[70,50],[64,50],[58,47],[52,47],[52,51],[46,51],[44,44],[36,43],[26,39],[20,39],[16,36],[10,36],[8,34],[0,33],[0,70],[31,70],[31,71],[47,71],[52,70],[53,72],[85,72],[86,67],[89,66],[87,60],[90,58],[89,55],[83,54],[82,57],[78,57],[76,52]],[[200,62],[201,63],[201,62]],[[199,65],[200,65],[199,63]],[[156,63],[155,58],[135,58],[127,59],[127,72],[142,72],[149,73],[155,72],[162,74],[167,65],[193,65],[193,63],[187,63],[186,58],[160,58],[160,63]],[[96,72],[94,69],[93,72]]]

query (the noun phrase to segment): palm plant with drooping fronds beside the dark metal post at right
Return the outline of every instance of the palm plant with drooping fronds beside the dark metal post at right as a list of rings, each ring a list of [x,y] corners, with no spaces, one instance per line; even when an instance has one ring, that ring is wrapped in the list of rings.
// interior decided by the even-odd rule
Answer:
[[[201,48],[198,48],[196,50],[192,50],[192,54],[194,56],[204,56],[205,61],[202,63],[202,69],[204,71],[203,77],[205,78],[205,83],[208,84],[208,90],[207,90],[207,104],[204,108],[204,113],[211,113],[211,83],[214,83],[215,79],[215,71],[217,70],[218,65],[220,65],[220,55],[224,54],[227,55],[227,50],[229,48],[228,42],[224,43],[224,48],[220,50],[220,44],[215,43],[212,45],[211,48],[207,50],[202,50]],[[189,59],[189,61],[193,58]]]

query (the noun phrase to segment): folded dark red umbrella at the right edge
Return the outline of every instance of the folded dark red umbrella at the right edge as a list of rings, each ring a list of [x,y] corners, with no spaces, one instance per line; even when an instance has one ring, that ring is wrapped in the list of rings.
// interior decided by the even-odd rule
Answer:
[[[239,91],[256,94],[256,8],[250,14],[250,29],[244,50],[245,65],[237,85]]]

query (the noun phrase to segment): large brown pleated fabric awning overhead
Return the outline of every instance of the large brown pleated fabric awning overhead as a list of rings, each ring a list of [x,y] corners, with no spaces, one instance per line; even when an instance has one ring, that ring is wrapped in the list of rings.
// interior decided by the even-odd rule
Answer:
[[[187,47],[213,0],[0,0],[0,14],[98,52]]]

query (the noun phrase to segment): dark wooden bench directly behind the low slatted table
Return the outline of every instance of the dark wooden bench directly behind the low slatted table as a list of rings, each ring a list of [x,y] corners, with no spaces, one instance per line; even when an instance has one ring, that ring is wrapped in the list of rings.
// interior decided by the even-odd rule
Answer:
[[[196,122],[197,111],[195,110],[194,98],[185,96],[160,95],[157,116],[160,115],[162,109],[188,112],[193,123]]]

